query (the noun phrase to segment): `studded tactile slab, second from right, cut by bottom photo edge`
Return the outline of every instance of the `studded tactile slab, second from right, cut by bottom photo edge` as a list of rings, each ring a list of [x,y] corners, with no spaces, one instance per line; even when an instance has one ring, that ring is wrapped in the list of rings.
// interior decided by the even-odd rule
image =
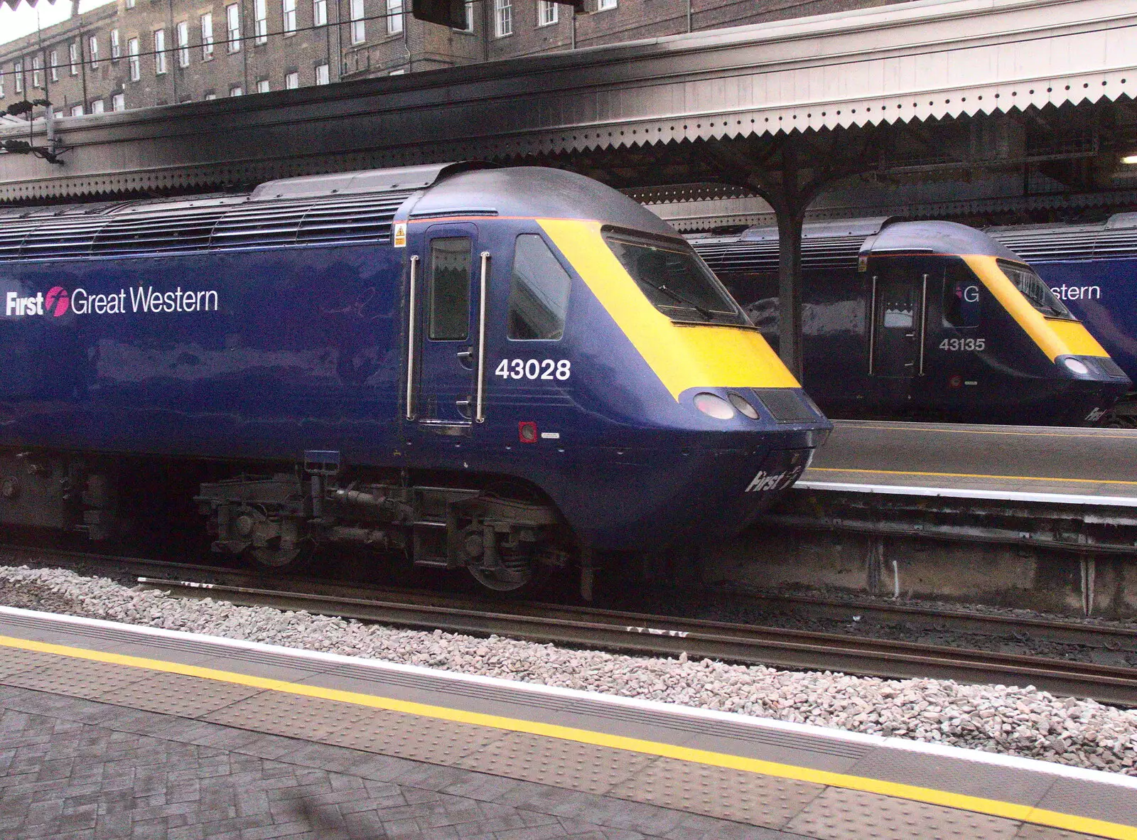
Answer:
[[[818,840],[999,840],[1013,838],[1019,825],[968,810],[828,788],[786,825],[786,831]]]

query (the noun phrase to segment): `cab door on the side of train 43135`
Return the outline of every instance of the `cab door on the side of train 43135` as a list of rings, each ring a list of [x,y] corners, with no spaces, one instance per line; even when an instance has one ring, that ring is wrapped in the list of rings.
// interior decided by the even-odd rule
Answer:
[[[922,374],[927,281],[905,259],[872,276],[869,373],[878,380]]]

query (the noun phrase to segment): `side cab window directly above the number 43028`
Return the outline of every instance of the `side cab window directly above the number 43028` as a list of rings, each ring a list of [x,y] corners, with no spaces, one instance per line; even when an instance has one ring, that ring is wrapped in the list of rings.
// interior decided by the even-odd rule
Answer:
[[[545,240],[534,233],[517,236],[509,282],[506,335],[511,339],[556,341],[565,331],[572,281]]]

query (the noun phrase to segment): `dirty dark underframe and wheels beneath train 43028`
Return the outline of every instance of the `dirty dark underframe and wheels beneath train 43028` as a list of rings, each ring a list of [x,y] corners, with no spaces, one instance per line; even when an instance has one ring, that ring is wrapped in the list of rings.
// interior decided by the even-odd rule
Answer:
[[[201,477],[214,480],[193,481]],[[318,457],[292,472],[251,465],[234,476],[232,466],[216,464],[6,451],[0,524],[111,540],[136,531],[139,514],[153,514],[147,507],[168,506],[169,499],[155,504],[150,490],[160,493],[173,479],[166,494],[183,507],[192,499],[210,548],[262,568],[301,568],[321,547],[347,544],[401,555],[416,566],[465,568],[482,585],[509,591],[575,562],[582,594],[590,597],[590,556],[574,547],[571,530],[537,490],[492,476],[463,476],[462,485],[446,477],[342,474]]]

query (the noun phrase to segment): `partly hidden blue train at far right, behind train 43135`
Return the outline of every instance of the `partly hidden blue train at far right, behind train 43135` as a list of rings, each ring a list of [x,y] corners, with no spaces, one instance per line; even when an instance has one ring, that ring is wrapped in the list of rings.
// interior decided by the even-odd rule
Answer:
[[[989,227],[986,233],[1030,263],[1051,293],[1137,380],[1137,213],[1093,223]],[[1137,394],[1126,394],[1099,424],[1137,429]]]

